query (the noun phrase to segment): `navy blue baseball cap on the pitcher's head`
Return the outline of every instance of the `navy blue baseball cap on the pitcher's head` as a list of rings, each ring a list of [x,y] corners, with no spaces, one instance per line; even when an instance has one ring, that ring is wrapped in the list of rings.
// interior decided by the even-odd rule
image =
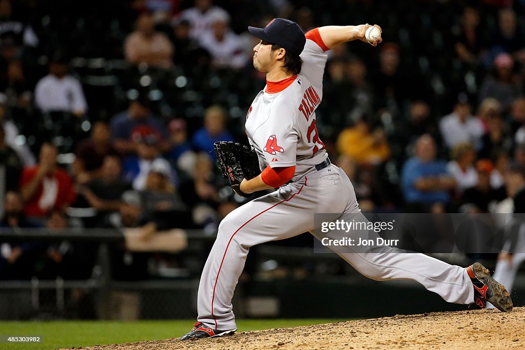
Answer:
[[[290,54],[299,56],[306,44],[306,37],[299,25],[289,19],[274,18],[264,28],[248,27],[251,35],[277,44]]]

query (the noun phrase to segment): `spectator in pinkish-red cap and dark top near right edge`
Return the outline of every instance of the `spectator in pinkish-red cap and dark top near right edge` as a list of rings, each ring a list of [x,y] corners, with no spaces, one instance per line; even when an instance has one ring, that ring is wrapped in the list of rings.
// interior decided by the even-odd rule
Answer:
[[[520,89],[512,75],[514,60],[509,54],[502,52],[494,59],[495,72],[485,78],[478,93],[478,101],[488,97],[497,99],[503,111],[507,112],[512,102],[520,96]]]

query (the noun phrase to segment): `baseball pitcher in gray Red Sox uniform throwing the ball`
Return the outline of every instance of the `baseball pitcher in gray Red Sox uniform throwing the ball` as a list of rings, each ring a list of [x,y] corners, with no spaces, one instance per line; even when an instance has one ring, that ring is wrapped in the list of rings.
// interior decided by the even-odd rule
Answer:
[[[314,227],[314,213],[360,212],[349,178],[330,163],[317,130],[316,109],[323,97],[327,51],[353,40],[376,46],[381,37],[365,38],[370,27],[327,26],[304,35],[296,23],[282,18],[265,28],[248,27],[260,39],[254,47],[254,67],[267,81],[246,114],[246,135],[259,167],[254,173],[255,154],[239,145],[219,142],[215,150],[223,176],[237,194],[249,197],[259,190],[277,190],[235,209],[220,223],[198,289],[197,322],[181,340],[237,330],[232,297],[250,247],[306,231],[318,239],[329,237],[330,232]],[[512,309],[505,287],[479,263],[462,268],[392,250],[338,254],[374,280],[410,279],[448,302],[484,306],[490,301],[501,311]]]

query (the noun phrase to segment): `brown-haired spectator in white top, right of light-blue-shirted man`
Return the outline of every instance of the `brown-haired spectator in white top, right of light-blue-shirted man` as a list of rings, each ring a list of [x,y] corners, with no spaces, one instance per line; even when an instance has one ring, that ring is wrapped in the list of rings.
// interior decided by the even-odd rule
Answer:
[[[456,189],[459,194],[466,188],[478,183],[478,173],[474,168],[476,150],[470,143],[460,143],[454,146],[451,152],[452,160],[447,165],[448,172],[456,180]]]

